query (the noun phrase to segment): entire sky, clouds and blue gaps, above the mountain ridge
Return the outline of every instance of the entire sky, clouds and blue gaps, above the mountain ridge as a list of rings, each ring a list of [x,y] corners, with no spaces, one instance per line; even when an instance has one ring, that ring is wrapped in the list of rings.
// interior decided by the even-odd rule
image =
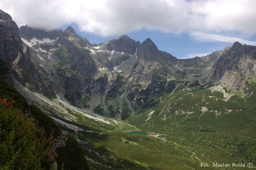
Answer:
[[[255,0],[1,0],[18,27],[65,30],[91,43],[127,34],[150,38],[177,58],[204,56],[235,41],[256,45]]]

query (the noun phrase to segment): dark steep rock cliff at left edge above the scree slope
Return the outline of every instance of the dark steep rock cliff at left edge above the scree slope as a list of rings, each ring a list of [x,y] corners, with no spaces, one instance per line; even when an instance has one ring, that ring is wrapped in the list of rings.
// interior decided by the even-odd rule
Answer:
[[[50,97],[53,91],[47,89],[35,65],[29,59],[28,48],[22,45],[19,30],[12,18],[0,14],[0,59],[8,63],[12,76],[20,83],[27,84],[33,91]]]

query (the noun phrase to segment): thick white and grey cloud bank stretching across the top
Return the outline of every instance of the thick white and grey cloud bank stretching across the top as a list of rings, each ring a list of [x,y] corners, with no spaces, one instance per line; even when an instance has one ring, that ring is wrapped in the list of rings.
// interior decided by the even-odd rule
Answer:
[[[101,36],[136,30],[167,33],[241,31],[256,33],[255,0],[1,0],[20,27],[54,29],[76,23]]]

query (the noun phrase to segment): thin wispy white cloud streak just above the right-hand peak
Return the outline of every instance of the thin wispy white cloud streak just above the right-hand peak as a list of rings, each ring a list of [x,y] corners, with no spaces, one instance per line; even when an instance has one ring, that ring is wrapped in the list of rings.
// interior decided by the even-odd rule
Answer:
[[[247,45],[256,45],[256,41],[248,41],[237,37],[226,37],[218,34],[210,34],[210,33],[203,33],[203,32],[194,32],[190,34],[195,40],[197,41],[221,41],[221,42],[229,42],[234,43],[236,41],[240,42],[241,44]]]

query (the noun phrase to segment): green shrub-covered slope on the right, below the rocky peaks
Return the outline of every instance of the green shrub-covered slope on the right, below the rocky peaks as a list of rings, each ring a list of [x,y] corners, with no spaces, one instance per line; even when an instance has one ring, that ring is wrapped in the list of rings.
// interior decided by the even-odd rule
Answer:
[[[154,107],[138,110],[129,123],[164,133],[167,140],[191,147],[211,162],[255,163],[255,89],[250,84],[246,95],[230,91],[228,99],[219,91],[180,86],[172,95],[163,94]]]

